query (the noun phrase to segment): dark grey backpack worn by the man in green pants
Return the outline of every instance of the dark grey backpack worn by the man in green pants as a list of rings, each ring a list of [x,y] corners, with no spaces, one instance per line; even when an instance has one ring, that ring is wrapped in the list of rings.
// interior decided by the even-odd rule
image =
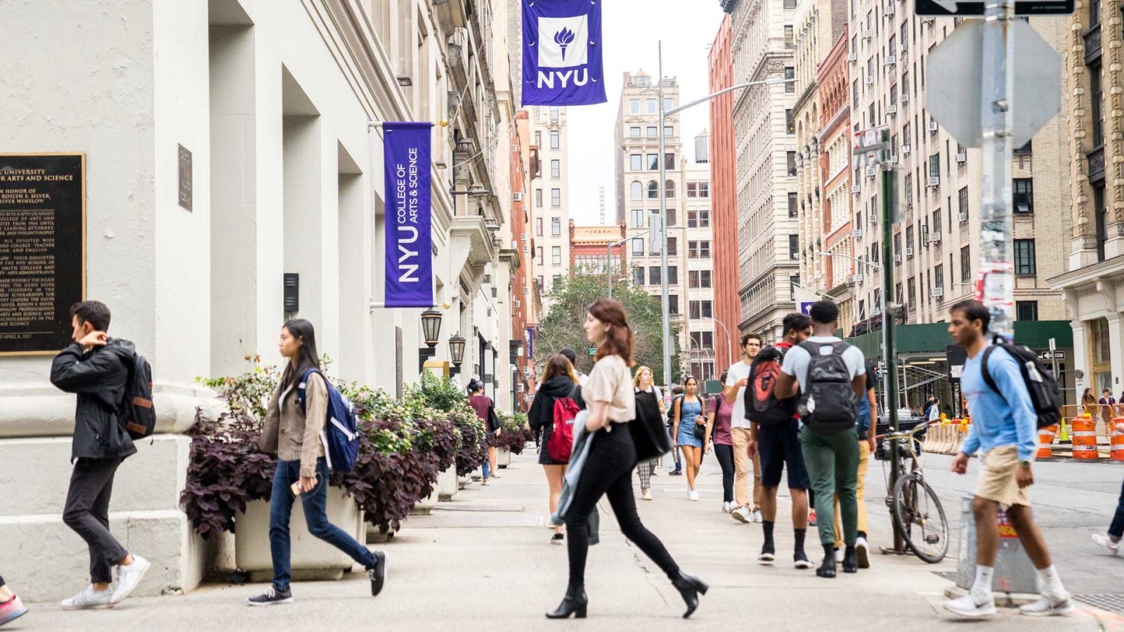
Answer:
[[[824,355],[819,350],[832,347]],[[851,371],[843,360],[843,352],[851,347],[845,342],[804,341],[800,347],[808,352],[807,382],[800,385],[800,419],[816,432],[840,432],[854,427],[859,417],[859,398],[851,388]]]

